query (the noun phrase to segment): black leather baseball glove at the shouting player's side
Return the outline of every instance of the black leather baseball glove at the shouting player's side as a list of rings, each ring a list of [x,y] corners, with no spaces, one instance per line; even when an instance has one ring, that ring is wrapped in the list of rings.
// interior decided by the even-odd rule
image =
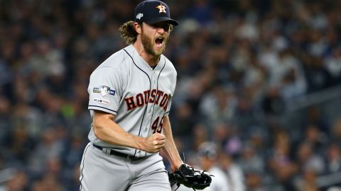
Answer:
[[[185,187],[193,188],[193,190],[203,190],[205,187],[209,187],[212,181],[211,176],[205,170],[197,170],[188,164],[182,164],[173,173],[168,172],[171,187],[185,185]]]

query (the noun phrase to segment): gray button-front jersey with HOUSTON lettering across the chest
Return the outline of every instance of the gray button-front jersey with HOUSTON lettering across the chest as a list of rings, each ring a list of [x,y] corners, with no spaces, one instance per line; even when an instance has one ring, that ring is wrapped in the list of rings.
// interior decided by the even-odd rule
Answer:
[[[90,76],[89,106],[116,115],[115,122],[126,132],[148,137],[162,132],[163,117],[168,115],[175,91],[176,71],[163,55],[151,69],[133,45],[112,54]],[[93,127],[88,138],[97,146],[110,147],[131,156],[150,154],[138,149],[107,144],[98,139]]]

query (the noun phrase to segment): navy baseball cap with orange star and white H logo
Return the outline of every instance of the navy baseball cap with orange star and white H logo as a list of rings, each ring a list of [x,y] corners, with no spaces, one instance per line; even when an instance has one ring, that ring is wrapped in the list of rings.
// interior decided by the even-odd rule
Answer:
[[[154,24],[166,21],[171,25],[179,25],[178,21],[171,18],[169,6],[162,1],[146,0],[135,8],[135,22]]]

